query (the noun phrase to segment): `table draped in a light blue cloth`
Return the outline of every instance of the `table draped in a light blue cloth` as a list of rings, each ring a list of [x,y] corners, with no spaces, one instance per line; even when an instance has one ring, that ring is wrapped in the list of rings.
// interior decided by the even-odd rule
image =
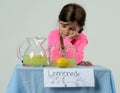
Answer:
[[[24,67],[18,64],[12,73],[6,93],[116,93],[111,70],[102,66],[92,67],[95,87],[50,88],[44,87],[43,81],[43,70],[48,67]]]

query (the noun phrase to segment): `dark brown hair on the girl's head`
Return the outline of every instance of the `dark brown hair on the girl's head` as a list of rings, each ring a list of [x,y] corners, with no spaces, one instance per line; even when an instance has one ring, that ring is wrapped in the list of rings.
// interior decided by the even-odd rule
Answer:
[[[86,20],[86,12],[84,8],[78,4],[70,3],[65,5],[59,14],[59,20],[63,22],[77,22],[78,25],[84,26]],[[81,33],[83,28],[79,31]]]

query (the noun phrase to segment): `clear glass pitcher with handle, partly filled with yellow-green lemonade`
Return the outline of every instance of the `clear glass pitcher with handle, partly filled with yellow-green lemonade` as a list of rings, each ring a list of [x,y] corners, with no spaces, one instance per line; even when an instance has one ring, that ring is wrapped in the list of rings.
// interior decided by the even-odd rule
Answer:
[[[47,65],[46,50],[42,46],[46,38],[31,37],[18,47],[17,56],[24,66]],[[26,47],[25,47],[26,46]]]

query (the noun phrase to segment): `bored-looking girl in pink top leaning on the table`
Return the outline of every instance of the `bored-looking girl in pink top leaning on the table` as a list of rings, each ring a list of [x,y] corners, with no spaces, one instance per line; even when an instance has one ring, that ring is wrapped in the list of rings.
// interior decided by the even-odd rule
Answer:
[[[83,61],[84,48],[88,44],[86,35],[83,29],[85,25],[86,12],[82,6],[70,3],[65,5],[58,16],[59,28],[54,29],[48,36],[48,48],[51,45],[61,44],[64,46],[74,45],[76,48],[76,64],[77,65],[92,65],[89,61]]]

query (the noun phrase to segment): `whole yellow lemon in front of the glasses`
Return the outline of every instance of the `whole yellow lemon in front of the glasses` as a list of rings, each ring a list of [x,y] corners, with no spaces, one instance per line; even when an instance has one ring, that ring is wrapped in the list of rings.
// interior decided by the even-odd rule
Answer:
[[[66,68],[69,65],[69,60],[64,57],[60,57],[56,60],[56,64],[60,68]]]

